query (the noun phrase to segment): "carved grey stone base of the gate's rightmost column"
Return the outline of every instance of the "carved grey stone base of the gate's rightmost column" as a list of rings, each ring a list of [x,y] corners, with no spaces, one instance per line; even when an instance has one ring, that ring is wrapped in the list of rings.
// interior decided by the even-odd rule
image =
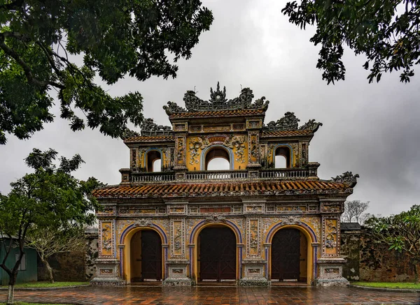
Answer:
[[[321,258],[318,260],[320,276],[316,278],[317,286],[346,286],[349,281],[343,277],[344,258]]]

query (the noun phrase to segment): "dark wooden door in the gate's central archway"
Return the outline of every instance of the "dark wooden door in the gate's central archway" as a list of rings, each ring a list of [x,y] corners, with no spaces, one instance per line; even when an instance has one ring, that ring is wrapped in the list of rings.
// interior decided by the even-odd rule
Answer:
[[[236,237],[229,228],[200,233],[200,280],[236,279]]]

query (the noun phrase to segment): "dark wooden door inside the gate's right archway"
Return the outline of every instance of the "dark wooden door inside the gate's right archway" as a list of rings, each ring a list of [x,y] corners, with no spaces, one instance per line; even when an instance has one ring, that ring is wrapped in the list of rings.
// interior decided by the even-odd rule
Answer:
[[[281,229],[272,240],[272,279],[283,281],[300,276],[300,231]]]

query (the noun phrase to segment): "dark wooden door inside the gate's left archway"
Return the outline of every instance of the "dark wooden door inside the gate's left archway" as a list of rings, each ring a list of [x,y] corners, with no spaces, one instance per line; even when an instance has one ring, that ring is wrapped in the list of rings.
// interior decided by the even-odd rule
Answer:
[[[141,231],[141,278],[162,279],[162,241],[153,230]]]

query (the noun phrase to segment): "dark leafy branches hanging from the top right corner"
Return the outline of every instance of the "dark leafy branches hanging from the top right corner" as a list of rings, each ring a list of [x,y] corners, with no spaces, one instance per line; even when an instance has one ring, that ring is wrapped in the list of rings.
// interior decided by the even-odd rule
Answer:
[[[367,57],[363,67],[370,70],[369,82],[393,70],[401,70],[400,81],[409,82],[420,62],[416,0],[302,0],[288,2],[282,12],[301,29],[316,24],[310,41],[321,45],[316,67],[328,84],[344,80],[345,45]]]

